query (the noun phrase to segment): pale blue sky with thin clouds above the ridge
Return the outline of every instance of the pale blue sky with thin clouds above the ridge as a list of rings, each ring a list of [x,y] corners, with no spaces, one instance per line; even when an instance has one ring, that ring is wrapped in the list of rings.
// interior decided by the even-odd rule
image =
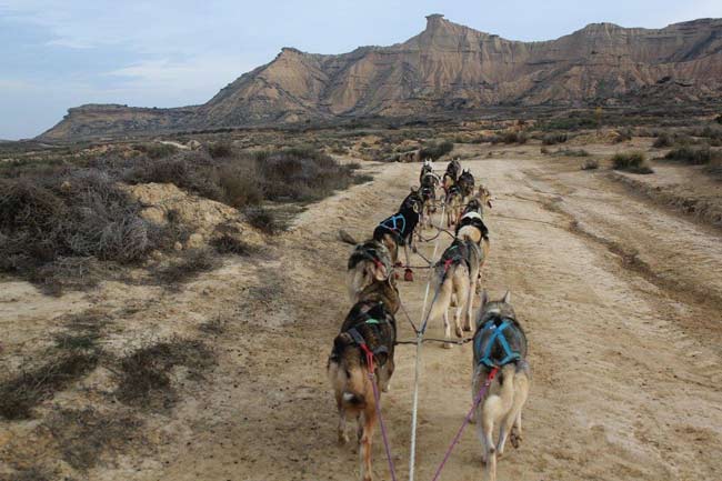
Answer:
[[[722,18],[722,0],[0,0],[0,139],[34,137],[83,103],[203,103],[282,47],[398,43],[430,13],[531,41]]]

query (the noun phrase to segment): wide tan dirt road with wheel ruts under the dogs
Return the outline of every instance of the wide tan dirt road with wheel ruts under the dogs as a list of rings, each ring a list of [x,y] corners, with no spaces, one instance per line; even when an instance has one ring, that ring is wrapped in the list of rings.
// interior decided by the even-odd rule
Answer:
[[[483,285],[492,297],[511,290],[533,371],[524,440],[500,461],[500,479],[722,478],[719,233],[630,197],[603,172],[513,159],[463,163],[495,198]],[[418,168],[374,167],[372,183],[304,212],[270,259],[213,273],[214,282],[207,280],[189,304],[190,314],[233,319],[213,340],[220,355],[210,382],[170,419],[151,423],[157,452],[121,458],[93,478],[354,479],[357,449],[337,445],[325,380],[331,341],[350,307],[349,247],[335,233],[370,234],[398,207]],[[429,255],[433,245],[422,249]],[[417,271],[415,282],[401,283],[417,318],[425,280]],[[402,317],[399,325],[399,337],[411,339]],[[440,321],[429,334],[441,337]],[[399,347],[383,398],[401,479],[413,354]],[[469,409],[471,347],[425,344],[422,369],[417,479],[428,480]],[[378,435],[373,457],[377,478],[389,479]],[[480,445],[468,430],[442,479],[479,480],[480,468]]]

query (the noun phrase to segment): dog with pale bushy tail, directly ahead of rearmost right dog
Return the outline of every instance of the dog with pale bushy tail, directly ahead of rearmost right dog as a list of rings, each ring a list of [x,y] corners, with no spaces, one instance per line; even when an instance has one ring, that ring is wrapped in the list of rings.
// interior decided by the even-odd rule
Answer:
[[[454,332],[458,338],[463,331],[471,331],[472,297],[479,279],[481,249],[475,242],[454,239],[437,262],[433,272],[434,300],[431,303],[429,319],[431,322],[443,314],[444,335],[451,337],[449,308],[457,307]],[[460,319],[463,315],[463,320]],[[463,330],[462,330],[463,323]],[[451,344],[444,344],[451,348]]]

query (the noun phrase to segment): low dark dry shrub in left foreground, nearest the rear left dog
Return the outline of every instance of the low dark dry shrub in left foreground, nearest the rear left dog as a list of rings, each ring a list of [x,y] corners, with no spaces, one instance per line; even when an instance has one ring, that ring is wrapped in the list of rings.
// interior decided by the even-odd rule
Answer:
[[[194,340],[174,338],[138,349],[120,360],[116,395],[126,404],[168,409],[177,400],[171,370],[183,365],[200,375],[213,362],[213,352]]]

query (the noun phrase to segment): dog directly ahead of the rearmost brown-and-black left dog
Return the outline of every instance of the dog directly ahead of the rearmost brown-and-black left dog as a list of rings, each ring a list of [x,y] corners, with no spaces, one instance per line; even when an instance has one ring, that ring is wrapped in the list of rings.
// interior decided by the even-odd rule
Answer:
[[[392,272],[391,255],[382,242],[371,239],[357,244],[349,257],[347,274],[351,302],[357,302],[359,294],[371,283],[389,280]]]

